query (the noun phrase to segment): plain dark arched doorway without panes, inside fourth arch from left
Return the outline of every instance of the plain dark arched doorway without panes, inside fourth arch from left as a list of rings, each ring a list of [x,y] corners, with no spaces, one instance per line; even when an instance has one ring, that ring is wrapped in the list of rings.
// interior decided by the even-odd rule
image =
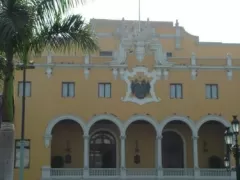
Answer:
[[[184,168],[183,140],[178,133],[163,133],[162,160],[163,168]]]

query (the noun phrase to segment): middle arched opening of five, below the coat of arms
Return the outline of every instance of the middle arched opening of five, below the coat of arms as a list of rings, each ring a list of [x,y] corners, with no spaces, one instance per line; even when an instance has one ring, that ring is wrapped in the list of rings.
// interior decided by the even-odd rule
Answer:
[[[126,168],[155,168],[156,129],[145,120],[136,120],[126,129]]]

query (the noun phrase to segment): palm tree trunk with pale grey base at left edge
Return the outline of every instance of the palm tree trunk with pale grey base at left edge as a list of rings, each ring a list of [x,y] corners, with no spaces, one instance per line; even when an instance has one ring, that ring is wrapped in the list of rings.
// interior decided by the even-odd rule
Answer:
[[[0,179],[13,180],[14,168],[14,67],[13,48],[6,50],[7,65],[4,69],[4,89],[2,104],[2,120],[0,128]]]

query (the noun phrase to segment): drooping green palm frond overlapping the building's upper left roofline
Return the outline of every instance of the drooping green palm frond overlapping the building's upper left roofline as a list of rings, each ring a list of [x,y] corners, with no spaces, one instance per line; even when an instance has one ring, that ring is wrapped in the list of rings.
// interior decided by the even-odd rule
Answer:
[[[45,47],[63,52],[70,52],[73,48],[86,52],[98,49],[96,36],[80,15],[70,15],[64,19],[56,15],[51,24],[45,24],[38,31],[31,46],[36,53]]]

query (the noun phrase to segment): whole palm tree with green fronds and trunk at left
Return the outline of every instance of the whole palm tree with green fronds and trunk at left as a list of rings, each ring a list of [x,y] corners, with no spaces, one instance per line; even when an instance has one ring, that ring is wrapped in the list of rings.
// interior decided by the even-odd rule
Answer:
[[[44,50],[71,52],[75,48],[90,52],[98,49],[91,27],[82,16],[66,16],[70,8],[80,3],[81,0],[0,0],[0,53],[5,57],[5,60],[0,59],[4,75],[4,122],[12,123],[14,120],[15,57],[26,67],[31,55],[41,54]],[[12,141],[0,142],[0,147],[13,148],[12,134]],[[2,155],[11,157],[10,162],[13,162],[13,152],[13,149],[9,149],[6,152],[8,155]],[[12,174],[13,164],[6,166],[3,168],[5,172],[7,168]]]

